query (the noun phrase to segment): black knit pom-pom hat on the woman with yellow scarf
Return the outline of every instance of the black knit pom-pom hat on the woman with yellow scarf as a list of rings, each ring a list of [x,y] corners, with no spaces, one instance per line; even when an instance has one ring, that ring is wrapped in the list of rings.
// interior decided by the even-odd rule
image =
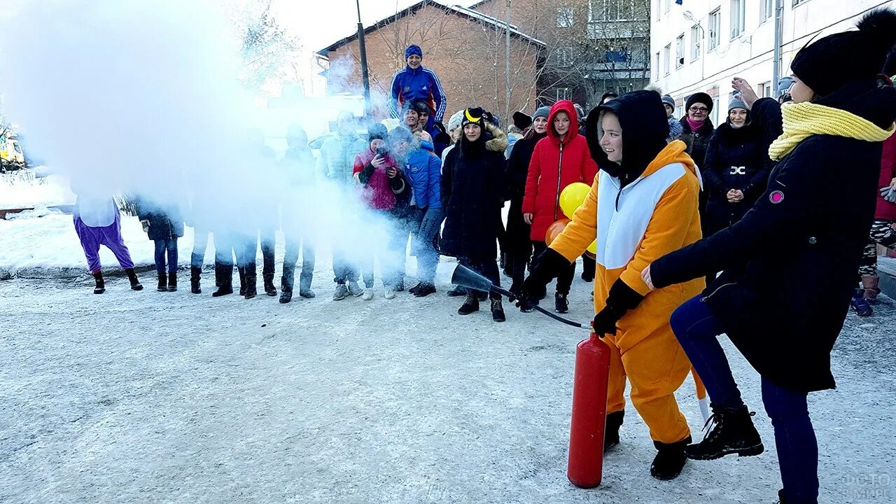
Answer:
[[[842,31],[800,49],[790,64],[793,74],[815,94],[827,96],[853,81],[881,73],[896,43],[896,12],[876,9]]]

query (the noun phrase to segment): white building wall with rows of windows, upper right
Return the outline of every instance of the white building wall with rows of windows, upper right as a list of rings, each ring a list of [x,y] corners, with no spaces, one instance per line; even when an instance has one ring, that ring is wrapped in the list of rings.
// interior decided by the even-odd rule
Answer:
[[[732,38],[732,4],[736,0],[686,0],[678,5],[672,0],[651,0],[650,13],[650,82],[676,99],[676,113],[684,113],[683,101],[696,91],[709,93],[718,102],[714,107],[713,123],[724,122],[731,99],[731,80],[735,76],[751,83],[759,96],[774,89],[771,83],[774,65],[774,13],[764,17],[767,0],[740,0],[745,3],[744,30]],[[771,0],[771,5],[775,4]],[[793,57],[816,34],[825,36],[853,28],[866,11],[889,5],[896,8],[896,0],[781,0],[780,75],[790,73]],[[719,9],[719,46],[709,49],[710,13]],[[694,21],[685,18],[692,14]],[[699,23],[699,29],[692,28]],[[676,68],[676,38],[684,34],[684,65]],[[699,43],[700,56],[694,59],[692,49]],[[664,49],[670,47],[668,71]],[[658,65],[659,63],[659,65]]]

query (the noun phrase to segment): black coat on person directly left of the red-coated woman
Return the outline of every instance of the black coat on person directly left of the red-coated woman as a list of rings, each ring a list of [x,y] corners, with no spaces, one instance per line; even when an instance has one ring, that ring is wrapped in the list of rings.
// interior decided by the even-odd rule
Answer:
[[[513,144],[510,159],[507,160],[506,198],[510,199],[507,212],[507,240],[513,250],[528,250],[530,247],[531,226],[522,220],[522,197],[526,194],[526,178],[529,176],[529,162],[535,144],[547,134],[521,138]]]

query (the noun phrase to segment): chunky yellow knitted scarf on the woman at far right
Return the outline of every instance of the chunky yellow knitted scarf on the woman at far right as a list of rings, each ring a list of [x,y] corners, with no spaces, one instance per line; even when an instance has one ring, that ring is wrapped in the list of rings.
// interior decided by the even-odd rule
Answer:
[[[866,142],[883,142],[896,130],[894,125],[884,130],[846,110],[810,102],[788,103],[781,107],[781,115],[784,133],[769,147],[769,157],[774,161],[780,161],[811,135],[836,135]]]

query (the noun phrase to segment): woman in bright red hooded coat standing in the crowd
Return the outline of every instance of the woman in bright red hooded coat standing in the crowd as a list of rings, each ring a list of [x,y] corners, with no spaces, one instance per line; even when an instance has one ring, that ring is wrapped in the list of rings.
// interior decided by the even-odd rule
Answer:
[[[573,182],[590,187],[598,165],[591,159],[585,137],[579,135],[579,119],[570,100],[557,101],[547,117],[547,137],[535,145],[526,178],[526,194],[522,199],[523,219],[532,225],[533,257],[547,248],[547,228],[559,219],[569,219],[560,209],[560,193]],[[569,310],[570,286],[575,264],[557,277],[555,305],[558,313]],[[544,298],[544,295],[541,296]]]

